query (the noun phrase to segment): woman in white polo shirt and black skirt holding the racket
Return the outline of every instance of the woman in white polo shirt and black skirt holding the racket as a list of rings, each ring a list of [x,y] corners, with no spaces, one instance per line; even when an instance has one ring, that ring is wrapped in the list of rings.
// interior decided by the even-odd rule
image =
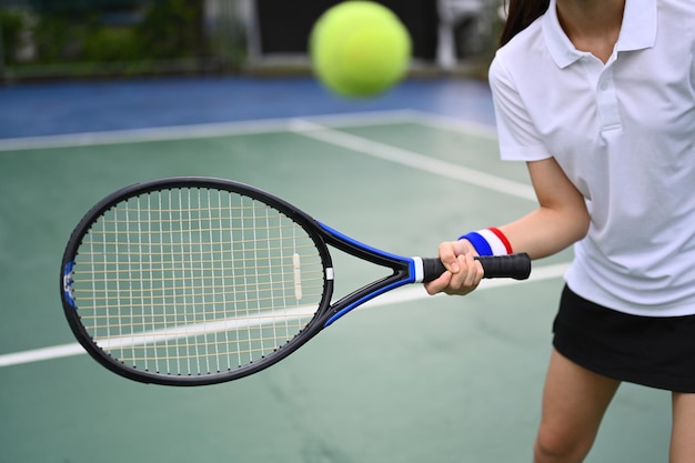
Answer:
[[[581,462],[623,381],[673,391],[671,462],[695,462],[695,3],[516,0],[490,69],[503,159],[538,208],[440,245],[431,294],[473,256],[574,243],[534,461]]]

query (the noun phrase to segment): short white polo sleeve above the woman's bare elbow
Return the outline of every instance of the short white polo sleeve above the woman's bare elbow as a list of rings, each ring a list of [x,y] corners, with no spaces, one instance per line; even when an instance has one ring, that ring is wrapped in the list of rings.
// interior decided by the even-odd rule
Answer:
[[[490,66],[488,79],[501,158],[505,161],[540,161],[552,158],[498,53]]]

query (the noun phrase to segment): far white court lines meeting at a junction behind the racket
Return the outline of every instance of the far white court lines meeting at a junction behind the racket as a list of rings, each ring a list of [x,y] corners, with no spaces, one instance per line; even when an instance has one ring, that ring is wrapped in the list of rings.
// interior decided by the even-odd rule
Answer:
[[[413,151],[403,150],[385,143],[367,140],[326,124],[342,127],[377,125],[389,123],[420,123],[440,130],[456,131],[459,133],[496,139],[495,130],[482,124],[459,121],[453,118],[426,113],[414,110],[394,110],[348,114],[328,114],[304,119],[269,119],[241,122],[222,122],[195,125],[149,128],[135,130],[119,130],[109,132],[73,133],[50,137],[33,137],[18,139],[0,139],[0,154],[2,151],[91,147],[122,143],[142,143],[162,140],[190,140],[226,135],[259,134],[280,131],[290,131],[304,137],[320,140],[382,160],[407,165],[423,172],[462,181],[487,190],[536,201],[532,187],[492,175],[486,172],[465,168],[451,162],[441,161]]]

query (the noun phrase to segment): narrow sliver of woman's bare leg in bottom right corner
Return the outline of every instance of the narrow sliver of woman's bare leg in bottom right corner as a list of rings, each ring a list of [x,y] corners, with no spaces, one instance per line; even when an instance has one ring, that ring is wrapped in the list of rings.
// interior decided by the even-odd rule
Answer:
[[[671,463],[695,463],[695,394],[673,393]]]

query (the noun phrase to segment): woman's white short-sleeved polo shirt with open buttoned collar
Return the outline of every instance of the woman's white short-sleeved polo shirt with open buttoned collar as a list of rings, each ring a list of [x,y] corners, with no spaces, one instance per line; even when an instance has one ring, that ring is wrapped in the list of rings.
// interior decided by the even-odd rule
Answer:
[[[626,0],[606,64],[548,11],[490,69],[501,155],[554,157],[584,194],[588,234],[566,274],[585,299],[695,314],[695,2]]]

